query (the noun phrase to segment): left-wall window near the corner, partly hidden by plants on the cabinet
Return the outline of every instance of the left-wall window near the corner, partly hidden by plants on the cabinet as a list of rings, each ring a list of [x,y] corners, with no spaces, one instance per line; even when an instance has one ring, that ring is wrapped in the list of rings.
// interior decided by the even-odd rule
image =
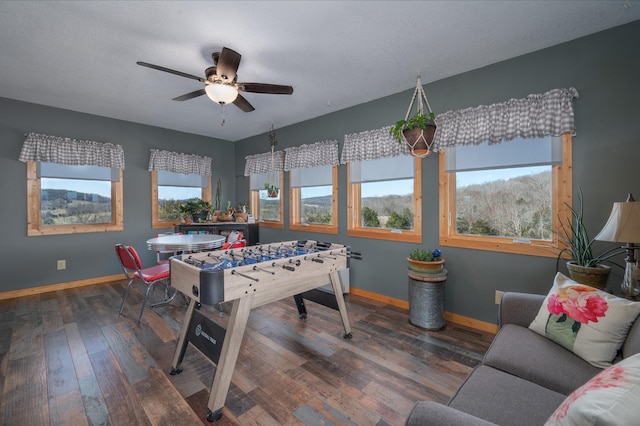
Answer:
[[[154,170],[151,172],[151,222],[173,228],[180,221],[180,205],[191,198],[211,202],[211,176]]]

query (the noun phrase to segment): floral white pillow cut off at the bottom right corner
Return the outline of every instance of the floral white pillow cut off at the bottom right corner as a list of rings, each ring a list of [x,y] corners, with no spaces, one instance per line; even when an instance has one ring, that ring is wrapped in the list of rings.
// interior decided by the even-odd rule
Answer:
[[[634,425],[640,415],[640,354],[598,373],[569,395],[545,426]]]

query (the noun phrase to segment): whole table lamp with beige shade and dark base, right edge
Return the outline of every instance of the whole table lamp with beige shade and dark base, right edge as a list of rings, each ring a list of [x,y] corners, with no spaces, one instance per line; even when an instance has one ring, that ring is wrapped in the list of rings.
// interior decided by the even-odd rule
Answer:
[[[595,239],[626,243],[622,247],[627,251],[622,292],[629,298],[640,294],[635,258],[635,250],[640,247],[634,245],[634,243],[640,243],[640,202],[636,202],[633,195],[629,194],[627,201],[613,203],[611,216]]]

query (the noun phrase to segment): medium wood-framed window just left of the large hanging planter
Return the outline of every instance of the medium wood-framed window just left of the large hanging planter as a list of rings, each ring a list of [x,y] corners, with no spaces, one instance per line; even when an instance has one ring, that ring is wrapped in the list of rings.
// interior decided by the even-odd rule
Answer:
[[[347,235],[422,242],[422,162],[407,155],[349,162]]]

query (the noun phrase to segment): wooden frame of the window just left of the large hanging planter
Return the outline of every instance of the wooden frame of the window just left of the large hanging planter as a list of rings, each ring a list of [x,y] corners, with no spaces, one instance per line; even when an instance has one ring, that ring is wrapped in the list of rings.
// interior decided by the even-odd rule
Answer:
[[[351,164],[347,163],[347,235],[378,240],[422,243],[422,159],[414,159],[413,171],[413,229],[394,231],[385,228],[360,226],[361,187],[351,183]]]

